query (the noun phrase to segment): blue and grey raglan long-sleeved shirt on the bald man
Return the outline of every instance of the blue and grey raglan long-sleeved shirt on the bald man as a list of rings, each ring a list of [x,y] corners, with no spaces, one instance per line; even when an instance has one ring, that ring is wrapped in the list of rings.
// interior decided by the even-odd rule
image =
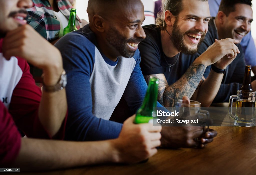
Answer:
[[[62,37],[55,45],[67,72],[67,140],[106,140],[119,136],[122,124],[109,121],[124,96],[133,113],[141,106],[147,84],[140,52],[132,58],[107,58],[89,25]],[[161,106],[158,103],[158,106]]]

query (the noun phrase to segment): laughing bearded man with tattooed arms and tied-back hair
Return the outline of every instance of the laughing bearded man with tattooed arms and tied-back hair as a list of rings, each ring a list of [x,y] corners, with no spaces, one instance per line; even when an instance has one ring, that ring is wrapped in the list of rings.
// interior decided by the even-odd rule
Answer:
[[[158,101],[163,106],[173,107],[183,96],[210,106],[227,66],[240,53],[235,45],[239,41],[226,38],[197,57],[210,17],[207,0],[166,0],[157,25],[143,27],[146,38],[138,46],[142,73],[147,82],[152,75],[159,78]],[[205,79],[209,65],[215,69]]]

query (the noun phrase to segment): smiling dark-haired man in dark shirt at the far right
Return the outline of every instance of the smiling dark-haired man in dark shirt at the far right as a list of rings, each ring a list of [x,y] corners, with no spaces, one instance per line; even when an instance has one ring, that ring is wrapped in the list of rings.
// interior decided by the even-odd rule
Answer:
[[[215,39],[233,38],[240,43],[244,36],[251,31],[253,21],[251,6],[252,3],[249,0],[222,0],[216,18],[213,17],[209,22],[209,31],[199,46],[198,55],[207,50],[215,42]],[[237,90],[242,86],[245,67],[244,53],[240,44],[237,44],[237,47],[241,52],[227,67],[225,78],[222,80],[214,102],[228,102],[229,97],[236,95]],[[211,68],[216,69],[209,66],[205,71],[205,77],[209,75]],[[252,82],[252,88],[256,89],[256,81]]]

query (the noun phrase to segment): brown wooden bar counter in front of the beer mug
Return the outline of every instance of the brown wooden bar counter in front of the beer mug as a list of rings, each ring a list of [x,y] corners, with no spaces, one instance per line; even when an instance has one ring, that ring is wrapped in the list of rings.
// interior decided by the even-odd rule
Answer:
[[[146,163],[133,165],[94,165],[21,174],[256,174],[256,128],[211,128],[218,135],[204,149],[159,149]]]

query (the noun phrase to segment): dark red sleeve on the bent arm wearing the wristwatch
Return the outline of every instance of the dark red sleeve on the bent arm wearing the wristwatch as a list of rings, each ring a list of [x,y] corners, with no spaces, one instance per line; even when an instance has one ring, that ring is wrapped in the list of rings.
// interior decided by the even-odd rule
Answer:
[[[42,92],[36,86],[35,80],[30,74],[28,63],[18,58],[18,64],[23,71],[23,75],[13,91],[9,112],[13,115],[18,128],[28,137],[52,139],[38,117]],[[64,139],[66,121],[67,115],[54,139]]]

